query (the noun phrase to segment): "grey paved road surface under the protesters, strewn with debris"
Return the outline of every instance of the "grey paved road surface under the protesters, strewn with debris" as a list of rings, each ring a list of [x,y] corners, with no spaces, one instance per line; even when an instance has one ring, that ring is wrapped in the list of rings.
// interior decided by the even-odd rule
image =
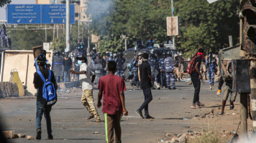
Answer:
[[[134,112],[144,101],[142,90],[128,86],[125,94],[128,117],[122,118],[122,142],[148,143],[159,142],[167,132],[173,134],[186,132],[188,129],[201,131],[209,127],[206,122],[190,119],[195,114],[206,112],[209,109],[191,109],[193,86],[186,82],[176,82],[176,90],[152,90],[153,100],[150,103],[150,115],[154,120],[140,119]],[[203,103],[220,104],[221,99],[216,97],[215,90],[210,91],[208,85],[201,85],[200,100]],[[42,119],[42,140],[40,142],[105,142],[104,122],[97,124],[95,120],[87,121],[88,112],[81,104],[82,89],[78,88],[69,93],[61,93],[58,103],[52,107],[52,134],[54,140],[47,139],[45,119]],[[97,101],[98,90],[94,91]],[[14,130],[35,137],[35,97],[13,98],[0,100],[1,119],[5,130]],[[237,99],[236,104],[238,104]],[[206,106],[207,106],[206,104]],[[104,116],[98,109],[100,117]],[[183,119],[188,118],[188,120]],[[233,123],[231,123],[233,124]],[[99,132],[99,134],[93,134]],[[38,142],[27,139],[9,139],[10,142]]]

